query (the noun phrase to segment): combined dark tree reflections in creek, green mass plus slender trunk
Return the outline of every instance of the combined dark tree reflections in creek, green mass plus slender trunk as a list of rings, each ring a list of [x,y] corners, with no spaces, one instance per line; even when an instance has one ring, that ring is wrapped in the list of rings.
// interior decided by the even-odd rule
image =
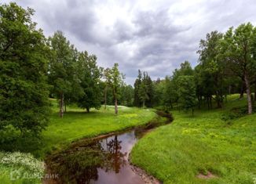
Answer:
[[[114,139],[109,142],[106,139],[106,142],[107,150],[104,150],[101,143],[94,142],[50,157],[50,172],[58,173],[58,183],[86,184],[98,179],[97,168],[119,173],[120,168],[126,164],[126,153],[121,152],[122,141],[115,135]]]

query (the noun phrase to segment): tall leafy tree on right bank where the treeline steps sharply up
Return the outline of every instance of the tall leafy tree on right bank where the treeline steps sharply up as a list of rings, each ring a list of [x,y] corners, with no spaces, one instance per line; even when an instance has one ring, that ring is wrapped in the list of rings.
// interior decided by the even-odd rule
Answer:
[[[207,34],[206,40],[201,40],[199,45],[199,66],[197,67],[196,77],[201,81],[204,88],[204,96],[207,99],[215,99],[218,108],[221,108],[225,86],[225,63],[219,55],[219,42],[222,34],[212,31]],[[214,97],[213,97],[214,96]]]

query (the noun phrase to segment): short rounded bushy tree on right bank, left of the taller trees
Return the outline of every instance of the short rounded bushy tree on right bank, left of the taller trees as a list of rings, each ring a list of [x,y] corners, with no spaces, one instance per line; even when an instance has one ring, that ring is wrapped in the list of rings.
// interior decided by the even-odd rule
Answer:
[[[193,76],[183,75],[177,79],[179,103],[183,110],[192,110],[196,106],[196,86]]]

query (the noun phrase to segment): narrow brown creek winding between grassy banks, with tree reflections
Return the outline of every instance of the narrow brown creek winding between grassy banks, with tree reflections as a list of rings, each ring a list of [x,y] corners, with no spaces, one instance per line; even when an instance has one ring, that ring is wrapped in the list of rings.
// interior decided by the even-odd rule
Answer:
[[[172,119],[167,117],[166,123]],[[45,179],[44,184],[143,184],[138,171],[128,161],[134,144],[145,132],[157,124],[133,128],[126,132],[83,139],[68,150],[50,155],[46,160],[48,173],[57,173],[57,179]]]

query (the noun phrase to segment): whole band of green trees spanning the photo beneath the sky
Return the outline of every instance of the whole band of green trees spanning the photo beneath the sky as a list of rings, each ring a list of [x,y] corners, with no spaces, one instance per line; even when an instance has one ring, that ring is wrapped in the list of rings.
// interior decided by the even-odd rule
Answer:
[[[256,88],[256,28],[241,24],[225,34],[213,31],[199,43],[199,64],[181,63],[164,80],[152,81],[139,70],[131,85],[124,83],[118,63],[99,67],[97,56],[79,52],[61,31],[46,38],[31,20],[34,10],[16,3],[0,5],[0,130],[15,128],[21,135],[39,133],[49,121],[49,97],[65,106],[77,104],[87,112],[101,105],[193,110],[212,101],[223,106],[225,96],[247,92],[252,113],[251,87]]]

